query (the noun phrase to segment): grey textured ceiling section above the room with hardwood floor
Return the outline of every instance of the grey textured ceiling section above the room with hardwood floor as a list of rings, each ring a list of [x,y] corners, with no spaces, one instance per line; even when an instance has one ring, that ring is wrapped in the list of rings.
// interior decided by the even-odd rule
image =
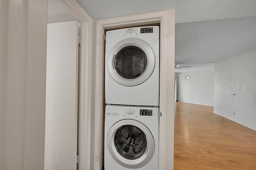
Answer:
[[[214,63],[256,48],[256,16],[177,23],[175,63]]]

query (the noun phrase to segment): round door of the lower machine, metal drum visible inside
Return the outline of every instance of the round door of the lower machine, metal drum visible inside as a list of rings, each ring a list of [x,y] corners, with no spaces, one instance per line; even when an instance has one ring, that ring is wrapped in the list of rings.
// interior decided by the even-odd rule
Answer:
[[[132,119],[115,123],[106,140],[112,158],[126,168],[135,169],[146,165],[155,150],[154,138],[149,129]]]

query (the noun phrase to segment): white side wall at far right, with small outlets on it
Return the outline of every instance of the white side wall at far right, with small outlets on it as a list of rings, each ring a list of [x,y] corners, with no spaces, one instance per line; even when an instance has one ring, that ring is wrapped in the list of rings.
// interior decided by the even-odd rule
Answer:
[[[256,48],[220,61],[215,64],[214,84],[214,113],[254,130],[256,130],[255,64]]]

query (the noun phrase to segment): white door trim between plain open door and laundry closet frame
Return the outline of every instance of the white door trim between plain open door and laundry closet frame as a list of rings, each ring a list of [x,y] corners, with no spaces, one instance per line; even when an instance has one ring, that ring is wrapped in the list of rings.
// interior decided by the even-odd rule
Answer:
[[[80,104],[79,104],[79,158],[78,168],[90,170],[94,150],[91,141],[94,127],[94,68],[95,21],[75,0],[57,0],[80,22]],[[93,135],[94,136],[94,135]]]

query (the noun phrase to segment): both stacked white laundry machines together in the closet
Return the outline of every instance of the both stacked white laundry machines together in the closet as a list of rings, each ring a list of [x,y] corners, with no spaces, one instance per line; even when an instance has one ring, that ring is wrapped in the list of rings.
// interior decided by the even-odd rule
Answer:
[[[106,32],[105,170],[158,170],[159,27]]]

